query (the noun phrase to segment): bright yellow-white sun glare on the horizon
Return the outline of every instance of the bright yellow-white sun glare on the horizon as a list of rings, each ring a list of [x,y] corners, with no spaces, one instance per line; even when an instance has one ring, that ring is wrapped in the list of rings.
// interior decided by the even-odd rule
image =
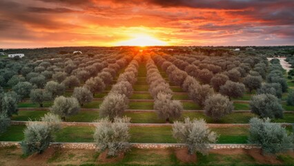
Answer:
[[[154,37],[141,35],[133,39],[117,42],[117,46],[166,46],[167,43]]]

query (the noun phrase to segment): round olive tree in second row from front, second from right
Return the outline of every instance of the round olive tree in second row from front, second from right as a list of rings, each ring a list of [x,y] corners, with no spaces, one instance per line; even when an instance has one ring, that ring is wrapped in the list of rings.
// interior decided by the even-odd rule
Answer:
[[[233,109],[233,102],[221,94],[211,95],[205,101],[205,114],[215,121],[228,115]]]

